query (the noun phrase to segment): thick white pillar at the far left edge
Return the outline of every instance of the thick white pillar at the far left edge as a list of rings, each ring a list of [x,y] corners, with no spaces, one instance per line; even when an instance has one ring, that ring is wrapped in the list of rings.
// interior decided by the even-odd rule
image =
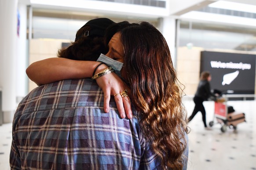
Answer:
[[[18,0],[0,0],[0,87],[4,123],[13,119],[16,110],[15,55]]]

